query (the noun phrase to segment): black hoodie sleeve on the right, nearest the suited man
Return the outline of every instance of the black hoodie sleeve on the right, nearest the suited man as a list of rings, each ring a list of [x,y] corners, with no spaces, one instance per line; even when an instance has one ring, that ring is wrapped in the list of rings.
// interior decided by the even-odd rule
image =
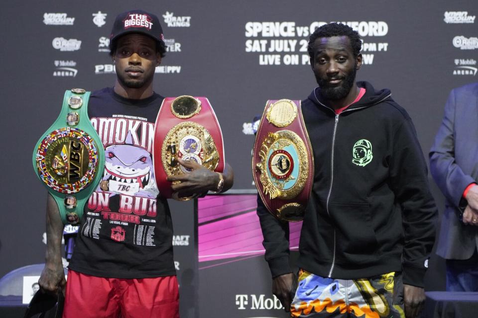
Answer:
[[[411,119],[397,129],[390,159],[391,186],[402,211],[403,283],[423,287],[435,241],[437,208],[430,192],[427,165]]]

